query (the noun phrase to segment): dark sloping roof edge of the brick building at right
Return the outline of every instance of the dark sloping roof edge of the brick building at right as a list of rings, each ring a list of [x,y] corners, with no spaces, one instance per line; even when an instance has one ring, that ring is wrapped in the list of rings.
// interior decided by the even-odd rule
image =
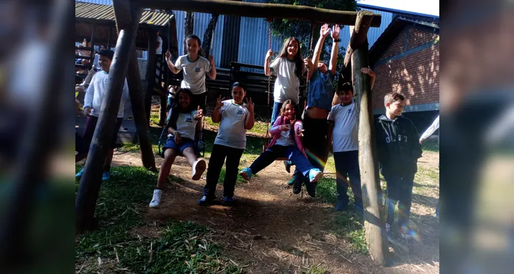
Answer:
[[[439,34],[439,16],[397,15],[389,26],[384,29],[382,35],[378,37],[373,47],[369,49],[369,64],[375,64],[380,55],[387,50],[398,34],[408,25],[417,25],[429,32]]]

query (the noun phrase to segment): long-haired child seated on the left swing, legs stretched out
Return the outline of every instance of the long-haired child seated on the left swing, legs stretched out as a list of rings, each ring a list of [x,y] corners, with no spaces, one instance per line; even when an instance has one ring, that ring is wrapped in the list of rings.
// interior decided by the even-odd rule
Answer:
[[[195,181],[199,180],[206,169],[204,159],[198,159],[195,154],[195,131],[200,125],[198,121],[204,117],[204,111],[198,106],[195,110],[191,98],[193,93],[187,88],[181,88],[176,94],[175,103],[171,108],[171,119],[168,121],[168,140],[162,151],[164,160],[160,166],[157,186],[154,190],[154,197],[151,199],[150,208],[157,208],[162,197],[162,190],[166,184],[171,165],[178,155],[184,156],[188,164],[192,168],[191,178]]]

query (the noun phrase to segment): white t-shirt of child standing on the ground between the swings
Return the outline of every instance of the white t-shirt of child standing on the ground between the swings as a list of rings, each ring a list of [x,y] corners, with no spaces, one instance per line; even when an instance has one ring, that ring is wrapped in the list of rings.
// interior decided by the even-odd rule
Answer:
[[[223,101],[220,109],[221,123],[215,145],[224,145],[234,149],[246,148],[245,122],[248,117],[246,104],[236,105],[232,100]]]

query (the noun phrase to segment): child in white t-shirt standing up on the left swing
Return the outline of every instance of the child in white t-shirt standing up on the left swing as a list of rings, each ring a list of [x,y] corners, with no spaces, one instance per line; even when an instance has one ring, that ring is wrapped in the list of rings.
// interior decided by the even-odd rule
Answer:
[[[205,75],[209,74],[210,79],[216,79],[216,64],[214,57],[209,55],[207,60],[201,56],[201,40],[198,36],[190,35],[186,38],[187,54],[179,56],[175,64],[171,62],[171,53],[166,51],[166,63],[172,73],[184,71],[184,79],[180,88],[188,88],[193,92],[193,105],[199,105],[205,110],[207,97],[205,86]]]

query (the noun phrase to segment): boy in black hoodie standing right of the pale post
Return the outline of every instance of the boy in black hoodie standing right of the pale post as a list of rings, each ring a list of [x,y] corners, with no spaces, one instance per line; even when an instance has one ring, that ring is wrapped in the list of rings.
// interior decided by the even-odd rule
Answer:
[[[421,157],[419,135],[413,122],[402,117],[405,98],[398,92],[384,97],[386,114],[375,123],[380,173],[387,183],[386,233],[391,233],[394,210],[398,202],[400,236],[410,238],[408,216],[411,214],[414,175]]]

